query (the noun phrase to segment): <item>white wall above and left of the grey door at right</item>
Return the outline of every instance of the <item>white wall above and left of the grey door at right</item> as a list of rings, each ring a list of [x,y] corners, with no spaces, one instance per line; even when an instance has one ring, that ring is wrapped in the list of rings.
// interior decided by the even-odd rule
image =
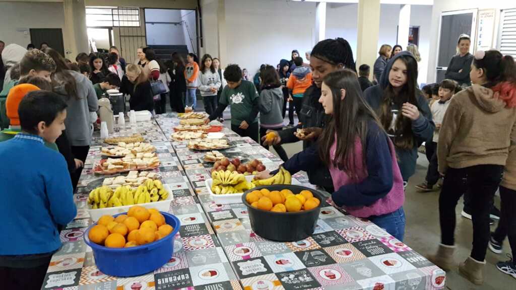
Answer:
[[[441,12],[453,11],[453,10],[464,10],[464,9],[489,9],[489,8],[515,8],[516,4],[514,1],[506,0],[434,0],[432,9],[432,25],[430,29],[430,54],[428,60],[428,82],[435,82],[436,80],[436,63],[438,53],[438,37],[439,37],[439,20],[441,18]],[[495,24],[498,23],[498,19],[495,20]],[[495,42],[496,43],[496,42]]]

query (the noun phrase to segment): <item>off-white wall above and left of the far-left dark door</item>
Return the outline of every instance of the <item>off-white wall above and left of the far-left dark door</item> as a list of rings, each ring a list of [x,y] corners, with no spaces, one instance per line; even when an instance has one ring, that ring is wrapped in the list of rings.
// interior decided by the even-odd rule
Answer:
[[[0,2],[0,19],[0,40],[6,45],[26,47],[30,43],[29,28],[62,28],[65,34],[62,3]]]

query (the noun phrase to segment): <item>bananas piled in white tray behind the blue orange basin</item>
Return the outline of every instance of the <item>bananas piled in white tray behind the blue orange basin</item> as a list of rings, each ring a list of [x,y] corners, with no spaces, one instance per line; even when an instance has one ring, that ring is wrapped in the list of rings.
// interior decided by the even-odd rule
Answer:
[[[109,186],[102,186],[91,190],[88,203],[91,208],[105,208],[122,205],[166,200],[168,191],[159,180],[147,180],[144,184],[133,189],[131,186],[119,186],[112,190]]]

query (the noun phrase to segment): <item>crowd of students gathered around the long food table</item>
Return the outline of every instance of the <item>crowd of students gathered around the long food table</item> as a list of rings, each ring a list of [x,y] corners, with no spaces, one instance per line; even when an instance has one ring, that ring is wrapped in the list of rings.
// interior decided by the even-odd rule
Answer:
[[[457,70],[463,81],[464,42],[469,39],[461,36],[450,66],[450,77]],[[471,86],[467,80],[445,79],[433,90],[420,90],[420,56],[414,47],[395,46],[391,56],[391,48],[382,46],[374,67],[377,84],[372,84],[367,65],[359,67],[357,77],[351,47],[342,38],[318,42],[307,53],[310,63],[293,51],[291,60],[282,59],[276,68],[263,65],[254,84],[238,65],[222,70],[209,54],[200,63],[188,54],[185,63],[175,53],[165,63],[143,47],[137,63],[127,64],[111,47],[107,55],[81,53],[71,63],[50,47],[27,51],[10,44],[2,49],[8,79],[0,93],[0,218],[9,223],[0,237],[0,278],[12,288],[41,285],[60,246],[59,229],[76,214],[72,192],[89,151],[99,98],[114,88],[130,95],[131,109],[156,114],[166,112],[167,93],[172,110],[195,109],[200,90],[209,114],[205,123],[220,120],[229,106],[234,132],[273,146],[285,169],[306,171],[312,184],[331,193],[334,206],[373,221],[399,240],[406,224],[404,187],[425,142],[430,165],[426,182],[417,187],[432,190],[444,176],[441,244],[429,259],[445,270],[454,267],[455,207],[464,194],[473,220],[473,249],[459,271],[481,284],[487,248],[501,253],[506,236],[516,253],[516,66],[498,51],[471,57]],[[154,94],[157,80],[167,91]],[[287,103],[291,126],[284,128]],[[290,118],[294,111],[297,124]],[[281,145],[298,141],[303,151],[288,158]],[[490,234],[498,187],[501,219]],[[516,277],[515,260],[497,267]]]

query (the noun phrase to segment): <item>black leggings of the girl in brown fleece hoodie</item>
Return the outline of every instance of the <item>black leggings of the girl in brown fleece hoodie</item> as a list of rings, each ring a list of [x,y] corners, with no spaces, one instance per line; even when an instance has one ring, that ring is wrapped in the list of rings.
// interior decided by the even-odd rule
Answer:
[[[493,196],[502,178],[501,165],[476,165],[466,168],[448,168],[439,196],[441,243],[455,245],[455,207],[462,194],[471,193],[473,221],[473,249],[471,257],[484,261],[489,243],[489,212]]]

